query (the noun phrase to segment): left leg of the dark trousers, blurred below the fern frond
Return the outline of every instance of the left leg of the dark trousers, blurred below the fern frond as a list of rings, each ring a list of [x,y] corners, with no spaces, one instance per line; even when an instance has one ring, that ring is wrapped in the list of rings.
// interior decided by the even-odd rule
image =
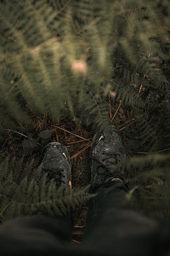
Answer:
[[[71,246],[72,223],[68,216],[52,218],[36,214],[0,225],[0,252],[3,255],[67,253]]]

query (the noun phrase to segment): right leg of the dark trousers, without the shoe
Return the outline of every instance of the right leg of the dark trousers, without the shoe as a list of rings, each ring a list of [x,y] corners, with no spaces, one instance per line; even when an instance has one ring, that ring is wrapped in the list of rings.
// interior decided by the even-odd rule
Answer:
[[[123,206],[126,187],[120,181],[94,185],[82,250],[103,255],[164,255],[170,230]],[[158,254],[158,255],[159,255]]]

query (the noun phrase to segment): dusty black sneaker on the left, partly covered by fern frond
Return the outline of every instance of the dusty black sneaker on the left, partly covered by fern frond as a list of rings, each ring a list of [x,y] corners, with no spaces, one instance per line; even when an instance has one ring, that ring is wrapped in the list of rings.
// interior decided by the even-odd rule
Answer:
[[[67,148],[59,142],[48,143],[41,153],[38,165],[47,173],[47,181],[55,179],[56,186],[71,189],[71,162]]]

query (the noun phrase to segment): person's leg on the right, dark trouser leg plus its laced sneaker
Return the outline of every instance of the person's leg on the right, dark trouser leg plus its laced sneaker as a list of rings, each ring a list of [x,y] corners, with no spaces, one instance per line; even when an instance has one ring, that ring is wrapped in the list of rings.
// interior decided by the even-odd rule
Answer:
[[[82,251],[106,256],[163,255],[169,247],[169,230],[123,206],[128,189],[123,182],[122,148],[115,127],[111,136],[99,133],[93,139],[90,192],[97,196],[89,202]]]

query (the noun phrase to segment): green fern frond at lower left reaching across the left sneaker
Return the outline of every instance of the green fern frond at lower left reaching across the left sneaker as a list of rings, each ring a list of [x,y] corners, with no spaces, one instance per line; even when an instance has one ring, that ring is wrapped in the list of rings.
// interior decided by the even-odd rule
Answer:
[[[63,187],[56,187],[55,181],[47,181],[47,174],[42,176],[41,168],[35,171],[34,175],[27,175],[21,178],[18,171],[22,173],[23,158],[8,170],[8,160],[5,159],[0,165],[0,219],[7,219],[18,216],[28,216],[34,213],[49,214],[50,216],[67,214],[70,208],[85,203],[95,194],[89,194],[89,186],[79,190]],[[32,163],[30,164],[32,167]],[[28,167],[30,169],[30,167]],[[17,168],[17,172],[16,172]],[[26,173],[25,173],[26,174]],[[32,178],[31,178],[32,176]],[[17,184],[13,182],[20,177]],[[9,181],[7,186],[4,183]]]

